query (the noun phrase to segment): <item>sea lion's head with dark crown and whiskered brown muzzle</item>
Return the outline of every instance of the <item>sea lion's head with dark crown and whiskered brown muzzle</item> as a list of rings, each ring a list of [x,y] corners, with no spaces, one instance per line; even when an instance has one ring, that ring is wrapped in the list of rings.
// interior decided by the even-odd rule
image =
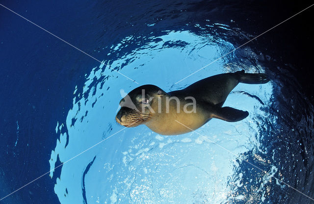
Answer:
[[[166,92],[151,84],[133,89],[120,101],[121,109],[116,115],[116,121],[125,127],[145,124],[157,112],[157,98],[162,95],[166,95]]]

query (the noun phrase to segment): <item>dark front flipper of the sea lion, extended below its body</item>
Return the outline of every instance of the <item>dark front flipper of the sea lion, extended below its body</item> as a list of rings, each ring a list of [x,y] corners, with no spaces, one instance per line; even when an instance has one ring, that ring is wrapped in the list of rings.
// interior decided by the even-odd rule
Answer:
[[[228,122],[237,122],[243,120],[249,115],[249,112],[238,110],[232,107],[221,107],[217,108],[211,115],[212,118],[217,118],[220,120]]]

